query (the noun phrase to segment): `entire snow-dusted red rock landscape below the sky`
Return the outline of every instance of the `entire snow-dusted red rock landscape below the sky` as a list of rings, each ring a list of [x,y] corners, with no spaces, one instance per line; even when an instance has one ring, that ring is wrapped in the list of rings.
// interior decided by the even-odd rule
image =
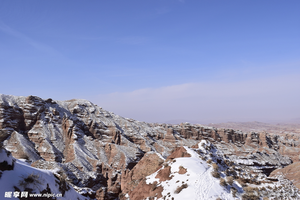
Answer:
[[[300,199],[291,131],[146,123],[82,99],[0,94],[0,142],[0,199]]]

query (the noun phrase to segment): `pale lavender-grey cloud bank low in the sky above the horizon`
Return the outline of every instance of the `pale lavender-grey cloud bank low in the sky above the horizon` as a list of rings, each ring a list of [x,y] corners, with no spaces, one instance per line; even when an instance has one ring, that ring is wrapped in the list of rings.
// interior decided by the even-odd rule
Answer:
[[[118,115],[141,121],[171,119],[289,119],[299,117],[300,75],[235,83],[186,83],[95,97]],[[216,121],[211,121],[212,123]]]

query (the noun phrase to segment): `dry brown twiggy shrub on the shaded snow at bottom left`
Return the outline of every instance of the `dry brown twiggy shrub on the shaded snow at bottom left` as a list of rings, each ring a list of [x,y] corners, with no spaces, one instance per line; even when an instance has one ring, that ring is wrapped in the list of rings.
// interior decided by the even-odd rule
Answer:
[[[32,189],[38,188],[39,190],[41,190],[41,185],[44,185],[45,181],[41,173],[35,172],[28,174],[27,177],[25,177],[24,175],[19,177],[22,178],[22,180],[18,182],[18,186],[23,188],[28,188],[30,185],[32,185]]]

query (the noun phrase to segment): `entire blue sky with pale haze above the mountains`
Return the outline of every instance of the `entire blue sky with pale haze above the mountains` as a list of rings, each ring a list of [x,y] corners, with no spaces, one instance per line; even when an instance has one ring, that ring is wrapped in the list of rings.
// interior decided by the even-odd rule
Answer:
[[[299,1],[0,0],[0,93],[82,98],[147,122],[298,118],[299,10]]]

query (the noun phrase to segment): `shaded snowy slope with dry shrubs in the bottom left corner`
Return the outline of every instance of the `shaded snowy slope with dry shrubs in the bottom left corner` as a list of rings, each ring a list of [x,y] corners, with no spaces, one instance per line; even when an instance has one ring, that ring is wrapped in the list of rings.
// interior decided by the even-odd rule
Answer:
[[[11,167],[5,167],[7,165]],[[42,197],[46,194],[47,197],[44,199],[54,199],[57,196],[57,199],[61,200],[88,200],[77,193],[73,187],[63,183],[63,180],[59,178],[61,175],[57,173],[58,170],[32,167],[27,160],[15,159],[4,149],[0,149],[0,169],[0,199],[9,198],[7,196],[9,193],[11,197],[14,197],[15,192],[19,192],[16,193],[15,198],[34,199],[37,198],[34,194],[42,194]],[[21,198],[22,192],[27,192],[27,197]]]

